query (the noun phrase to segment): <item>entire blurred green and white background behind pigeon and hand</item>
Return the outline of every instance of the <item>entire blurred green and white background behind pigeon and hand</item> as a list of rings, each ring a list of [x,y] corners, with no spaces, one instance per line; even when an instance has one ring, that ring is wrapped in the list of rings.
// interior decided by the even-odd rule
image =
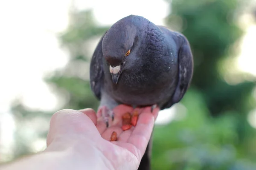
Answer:
[[[97,109],[90,58],[130,14],[194,55],[189,91],[157,118],[153,170],[256,170],[256,0],[0,1],[0,163],[44,150],[55,111]]]

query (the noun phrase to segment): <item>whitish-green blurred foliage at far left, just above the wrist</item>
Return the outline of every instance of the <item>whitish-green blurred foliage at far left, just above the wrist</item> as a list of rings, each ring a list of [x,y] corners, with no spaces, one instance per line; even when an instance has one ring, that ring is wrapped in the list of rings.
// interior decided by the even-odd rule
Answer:
[[[10,153],[10,157],[16,159],[33,153],[31,144],[35,139],[46,138],[52,112],[31,111],[23,106],[21,101],[15,100],[12,104],[12,114],[17,130],[14,133],[14,153]],[[40,123],[40,126],[33,127],[33,123]]]

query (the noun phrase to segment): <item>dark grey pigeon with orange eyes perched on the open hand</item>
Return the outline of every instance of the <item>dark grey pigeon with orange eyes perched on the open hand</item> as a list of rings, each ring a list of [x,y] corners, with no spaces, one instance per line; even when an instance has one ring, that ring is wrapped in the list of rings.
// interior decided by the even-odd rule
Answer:
[[[90,87],[108,127],[125,104],[170,108],[183,98],[193,73],[186,37],[144,17],[129,15],[101,37],[90,62]],[[151,136],[152,138],[152,136]],[[150,170],[150,139],[138,170]]]

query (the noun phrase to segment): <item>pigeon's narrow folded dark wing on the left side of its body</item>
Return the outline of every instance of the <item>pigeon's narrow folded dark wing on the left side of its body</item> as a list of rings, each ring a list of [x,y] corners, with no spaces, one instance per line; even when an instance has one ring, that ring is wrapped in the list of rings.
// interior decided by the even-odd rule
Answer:
[[[104,85],[102,40],[105,34],[101,37],[90,62],[90,87],[99,100],[101,99],[101,90]]]

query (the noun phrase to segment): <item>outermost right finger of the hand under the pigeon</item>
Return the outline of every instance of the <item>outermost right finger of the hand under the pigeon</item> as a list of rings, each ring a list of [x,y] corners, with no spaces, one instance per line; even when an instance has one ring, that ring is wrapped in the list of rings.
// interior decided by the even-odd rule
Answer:
[[[137,154],[136,156],[139,160],[145,153],[147,144],[153,131],[155,115],[157,115],[156,112],[158,111],[159,108],[156,108],[154,109],[153,113],[151,113],[150,110],[145,108],[145,110],[140,114],[137,125],[127,141],[128,143],[133,144],[139,150],[139,154],[134,153],[135,155]]]

